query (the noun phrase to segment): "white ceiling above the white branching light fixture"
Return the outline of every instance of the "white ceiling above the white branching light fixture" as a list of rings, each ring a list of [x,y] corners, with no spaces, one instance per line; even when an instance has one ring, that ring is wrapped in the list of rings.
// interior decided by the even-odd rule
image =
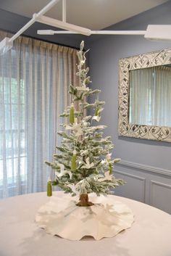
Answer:
[[[50,0],[0,0],[0,8],[26,17]],[[67,0],[67,22],[91,30],[107,28],[168,0]],[[62,0],[46,16],[62,20]]]

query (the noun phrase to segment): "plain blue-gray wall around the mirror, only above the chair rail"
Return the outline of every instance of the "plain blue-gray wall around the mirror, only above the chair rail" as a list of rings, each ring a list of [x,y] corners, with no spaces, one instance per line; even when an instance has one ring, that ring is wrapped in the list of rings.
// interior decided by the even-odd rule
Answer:
[[[146,30],[148,24],[171,25],[171,1],[162,4],[141,15],[118,23],[109,29]],[[147,41],[143,36],[93,36],[88,41],[89,65],[93,88],[102,90],[101,99],[106,101],[103,123],[108,125],[107,133],[112,134],[114,155],[122,160],[165,168],[171,171],[171,144],[143,139],[117,136],[117,96],[118,96],[118,62],[122,57],[130,57],[158,49],[171,48],[171,42]]]

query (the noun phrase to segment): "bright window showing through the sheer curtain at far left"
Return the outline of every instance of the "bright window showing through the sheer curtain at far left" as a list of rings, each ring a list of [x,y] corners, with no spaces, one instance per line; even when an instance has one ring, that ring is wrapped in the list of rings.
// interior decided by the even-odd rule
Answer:
[[[17,182],[18,168],[20,180],[25,181],[25,91],[24,80],[17,84],[15,78],[0,77],[1,109],[4,116],[0,118],[0,170],[3,170],[4,146],[6,147],[7,184],[14,186]],[[3,114],[3,112],[1,112]],[[3,128],[4,127],[4,128]],[[5,133],[2,136],[2,133]],[[19,165],[19,166],[18,166]],[[4,180],[4,173],[0,173],[0,186]]]

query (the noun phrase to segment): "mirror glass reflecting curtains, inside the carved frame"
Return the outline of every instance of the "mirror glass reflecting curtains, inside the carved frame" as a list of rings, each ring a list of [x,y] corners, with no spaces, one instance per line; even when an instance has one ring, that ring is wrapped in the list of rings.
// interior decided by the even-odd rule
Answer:
[[[129,122],[171,127],[171,68],[130,71]]]

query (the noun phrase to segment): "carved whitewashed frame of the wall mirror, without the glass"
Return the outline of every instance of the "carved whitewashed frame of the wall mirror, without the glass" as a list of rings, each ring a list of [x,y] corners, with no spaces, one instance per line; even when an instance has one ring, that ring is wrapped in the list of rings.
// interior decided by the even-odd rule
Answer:
[[[129,71],[171,64],[171,49],[152,51],[119,61],[118,135],[171,142],[171,127],[129,123]],[[170,113],[171,115],[171,113]]]

